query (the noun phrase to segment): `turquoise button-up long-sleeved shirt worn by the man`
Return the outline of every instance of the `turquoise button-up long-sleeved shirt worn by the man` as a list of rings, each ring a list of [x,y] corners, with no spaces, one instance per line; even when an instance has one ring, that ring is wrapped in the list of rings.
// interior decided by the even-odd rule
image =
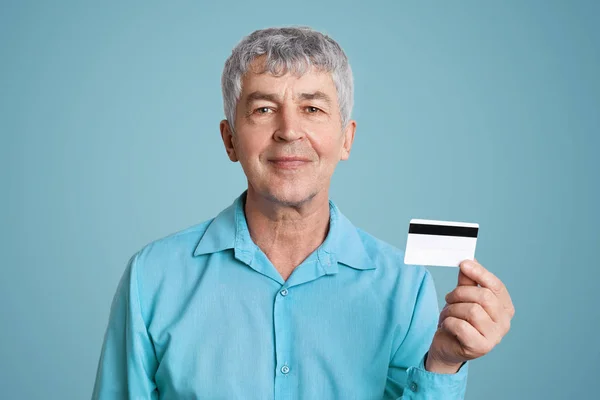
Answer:
[[[439,317],[429,271],[330,201],[325,241],[284,281],[244,202],[131,258],[93,399],[464,398],[467,364],[424,368]]]

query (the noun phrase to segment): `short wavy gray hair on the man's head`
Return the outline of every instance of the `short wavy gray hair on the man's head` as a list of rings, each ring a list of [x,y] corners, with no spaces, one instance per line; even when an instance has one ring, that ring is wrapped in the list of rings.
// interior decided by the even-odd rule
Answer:
[[[221,76],[225,117],[234,131],[235,109],[242,93],[242,77],[255,58],[266,55],[264,69],[275,76],[303,75],[310,67],[331,73],[340,107],[342,127],[350,121],[354,84],[352,70],[340,45],[309,27],[267,28],[243,38],[225,62]]]

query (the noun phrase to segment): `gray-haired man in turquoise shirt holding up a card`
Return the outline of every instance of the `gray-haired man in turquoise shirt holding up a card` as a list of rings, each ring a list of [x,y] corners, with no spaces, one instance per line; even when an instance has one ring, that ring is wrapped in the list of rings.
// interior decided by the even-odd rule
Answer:
[[[353,84],[331,38],[259,30],[225,64],[220,130],[248,189],[121,279],[94,399],[459,399],[514,308],[476,261],[439,313],[430,273],[329,201]]]

